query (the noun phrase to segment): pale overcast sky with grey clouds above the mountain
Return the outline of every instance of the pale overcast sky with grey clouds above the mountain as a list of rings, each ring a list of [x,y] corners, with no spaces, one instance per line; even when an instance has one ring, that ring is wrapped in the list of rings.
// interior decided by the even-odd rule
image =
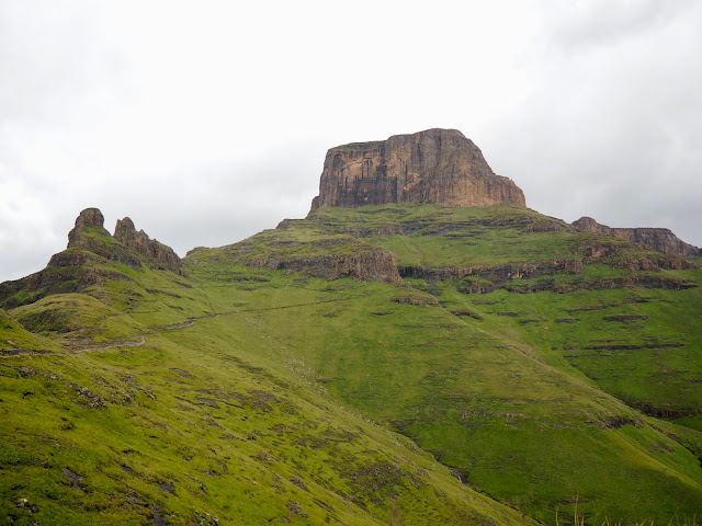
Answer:
[[[78,213],[179,254],[302,218],[326,150],[457,128],[541,213],[702,245],[702,1],[0,2],[0,282]]]

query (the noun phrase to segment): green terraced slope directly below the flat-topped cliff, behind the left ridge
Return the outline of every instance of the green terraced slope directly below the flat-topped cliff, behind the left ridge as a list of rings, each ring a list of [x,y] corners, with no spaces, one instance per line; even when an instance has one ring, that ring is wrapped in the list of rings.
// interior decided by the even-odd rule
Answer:
[[[392,252],[403,285],[284,264],[359,243]],[[700,510],[701,276],[684,259],[519,207],[403,204],[324,207],[184,264],[217,284],[214,306],[249,293],[247,338],[280,363],[536,518],[576,496],[591,524]]]

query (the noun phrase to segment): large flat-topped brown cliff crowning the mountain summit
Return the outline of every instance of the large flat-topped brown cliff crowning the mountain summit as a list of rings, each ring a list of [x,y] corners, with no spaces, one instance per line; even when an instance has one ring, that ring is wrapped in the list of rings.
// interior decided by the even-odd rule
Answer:
[[[312,211],[386,203],[525,206],[522,191],[496,175],[478,147],[455,129],[396,135],[327,152]]]

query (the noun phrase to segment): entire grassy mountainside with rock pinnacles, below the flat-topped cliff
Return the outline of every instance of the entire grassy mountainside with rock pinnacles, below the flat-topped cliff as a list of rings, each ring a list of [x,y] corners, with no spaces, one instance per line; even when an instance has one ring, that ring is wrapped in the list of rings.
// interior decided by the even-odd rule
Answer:
[[[1,284],[0,516],[693,524],[700,256],[523,199],[448,206],[439,187],[482,198],[446,161],[472,142],[398,137],[433,145],[421,202],[378,175],[401,148],[332,148],[305,219],[177,261],[89,209],[47,268]],[[390,168],[343,179],[363,151]]]

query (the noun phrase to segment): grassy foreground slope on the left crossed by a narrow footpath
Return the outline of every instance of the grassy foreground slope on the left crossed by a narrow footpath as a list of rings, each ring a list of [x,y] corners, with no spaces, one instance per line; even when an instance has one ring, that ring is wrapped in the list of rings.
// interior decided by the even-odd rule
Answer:
[[[0,311],[8,523],[528,523],[271,359],[248,281],[199,282],[82,222],[53,259],[76,283],[4,284],[24,304]]]

